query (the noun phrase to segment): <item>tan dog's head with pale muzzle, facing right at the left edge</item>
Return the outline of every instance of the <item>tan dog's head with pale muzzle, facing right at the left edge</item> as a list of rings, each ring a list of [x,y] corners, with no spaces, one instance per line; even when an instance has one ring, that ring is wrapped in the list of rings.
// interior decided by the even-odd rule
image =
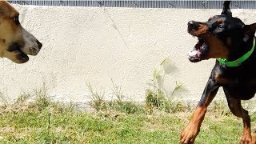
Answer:
[[[42,44],[21,26],[18,15],[8,2],[0,1],[0,57],[24,63],[27,54],[38,54]]]

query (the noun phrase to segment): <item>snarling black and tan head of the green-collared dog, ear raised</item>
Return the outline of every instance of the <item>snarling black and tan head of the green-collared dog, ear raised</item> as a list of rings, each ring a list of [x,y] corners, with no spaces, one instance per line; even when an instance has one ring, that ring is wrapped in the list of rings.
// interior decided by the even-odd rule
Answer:
[[[245,25],[239,18],[232,17],[229,5],[230,1],[224,2],[222,14],[207,22],[188,22],[188,33],[198,37],[198,43],[189,53],[190,62],[209,58],[232,59],[253,42],[256,23]]]

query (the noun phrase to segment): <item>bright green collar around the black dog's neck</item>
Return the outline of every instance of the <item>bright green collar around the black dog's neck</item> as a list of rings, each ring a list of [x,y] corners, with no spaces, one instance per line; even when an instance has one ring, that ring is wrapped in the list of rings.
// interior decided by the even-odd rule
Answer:
[[[235,67],[235,66],[240,66],[242,62],[244,62],[247,58],[250,57],[250,54],[254,52],[254,47],[255,47],[255,38],[254,38],[254,43],[250,51],[248,51],[246,54],[244,54],[242,57],[238,58],[237,60],[228,62],[226,61],[226,58],[217,58],[218,62],[220,62],[222,65],[226,65],[228,67]]]

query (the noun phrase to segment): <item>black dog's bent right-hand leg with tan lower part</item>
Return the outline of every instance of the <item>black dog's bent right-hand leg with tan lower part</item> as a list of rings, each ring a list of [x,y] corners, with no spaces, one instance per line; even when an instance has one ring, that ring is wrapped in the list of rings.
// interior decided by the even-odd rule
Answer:
[[[223,90],[226,94],[226,99],[231,112],[235,116],[242,118],[243,121],[243,134],[240,143],[251,143],[250,116],[248,114],[248,111],[242,108],[240,99],[234,98],[230,95],[230,89],[223,86]]]

